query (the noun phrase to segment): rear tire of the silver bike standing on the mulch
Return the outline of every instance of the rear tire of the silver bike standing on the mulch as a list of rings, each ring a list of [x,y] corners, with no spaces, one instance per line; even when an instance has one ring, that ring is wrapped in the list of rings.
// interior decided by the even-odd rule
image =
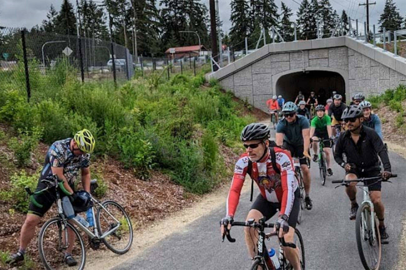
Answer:
[[[103,238],[102,240],[103,240],[104,244],[106,245],[106,247],[107,247],[108,249],[110,249],[112,252],[114,252],[114,253],[116,253],[116,254],[124,254],[124,253],[127,253],[127,251],[130,250],[131,245],[132,245],[132,241],[133,241],[133,239],[134,239],[134,231],[132,230],[132,224],[131,224],[130,217],[128,216],[127,212],[125,212],[124,208],[123,208],[119,203],[114,202],[114,201],[112,201],[112,200],[107,200],[107,201],[102,202],[102,206],[105,207],[105,208],[107,208],[106,206],[108,206],[108,204],[117,206],[117,208],[119,208],[119,210],[123,213],[123,215],[124,215],[124,217],[125,217],[125,220],[126,220],[126,222],[127,222],[128,232],[129,232],[130,239],[129,239],[129,242],[127,243],[127,245],[125,246],[124,249],[116,249],[116,248],[114,248],[114,247],[112,246],[112,244],[110,244],[110,243],[108,242],[107,236],[106,236],[105,238]],[[100,233],[100,234],[103,234],[103,233],[104,233],[103,230],[102,230],[102,227],[101,227],[101,222],[100,222],[100,215],[101,215],[102,211],[104,211],[104,209],[103,209],[102,207],[99,207],[99,208],[97,209],[97,214],[96,214],[97,230],[99,230],[99,233]],[[110,223],[109,223],[108,225],[111,227],[111,225],[113,225],[113,224],[110,224]],[[114,234],[114,235],[115,235],[117,238],[119,238],[119,236],[117,236],[116,234]]]

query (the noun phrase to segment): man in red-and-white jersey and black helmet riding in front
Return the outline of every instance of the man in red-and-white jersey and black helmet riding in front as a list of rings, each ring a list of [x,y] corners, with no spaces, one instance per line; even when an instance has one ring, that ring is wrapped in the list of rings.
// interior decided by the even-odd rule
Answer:
[[[276,147],[269,140],[270,131],[262,123],[251,123],[241,132],[241,140],[246,153],[235,164],[233,181],[227,197],[226,217],[220,221],[222,236],[226,233],[224,226],[231,228],[240,193],[248,174],[257,183],[260,194],[248,212],[248,219],[258,221],[261,217],[270,219],[279,209],[279,236],[286,242],[294,242],[294,232],[299,215],[300,193],[295,177],[292,157],[288,151]],[[252,196],[252,193],[251,193]],[[252,198],[252,197],[251,197]],[[249,256],[255,256],[254,243],[258,238],[256,230],[245,227],[245,242]],[[300,269],[298,249],[283,247],[283,252],[294,269]]]

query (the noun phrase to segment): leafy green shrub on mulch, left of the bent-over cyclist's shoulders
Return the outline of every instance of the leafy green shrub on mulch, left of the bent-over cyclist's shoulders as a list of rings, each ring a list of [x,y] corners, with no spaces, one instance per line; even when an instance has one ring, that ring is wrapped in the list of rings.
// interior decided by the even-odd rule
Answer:
[[[9,141],[9,147],[13,150],[17,159],[18,166],[24,166],[31,161],[31,152],[37,146],[39,138],[41,138],[42,129],[39,127],[34,128],[32,132],[18,131],[19,138],[13,137]]]

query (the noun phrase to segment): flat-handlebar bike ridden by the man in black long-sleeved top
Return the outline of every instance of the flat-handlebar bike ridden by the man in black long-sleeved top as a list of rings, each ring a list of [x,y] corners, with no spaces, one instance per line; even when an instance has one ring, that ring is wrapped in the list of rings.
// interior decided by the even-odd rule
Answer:
[[[392,177],[397,177],[397,174],[392,174]],[[365,180],[377,180],[376,182],[390,182],[382,179],[382,176],[361,178],[354,180],[334,180],[331,183],[339,183],[337,187],[348,186],[350,182],[363,182]],[[376,183],[375,182],[375,183]],[[373,185],[372,183],[371,185]],[[358,185],[363,190],[364,199],[358,208],[355,218],[355,236],[357,242],[357,248],[362,265],[365,269],[373,270],[378,269],[381,259],[381,241],[379,233],[379,221],[375,215],[374,204],[371,202],[369,192],[367,190],[368,185]],[[337,188],[336,187],[336,188]],[[370,250],[369,250],[370,249]],[[367,257],[370,257],[367,259]]]

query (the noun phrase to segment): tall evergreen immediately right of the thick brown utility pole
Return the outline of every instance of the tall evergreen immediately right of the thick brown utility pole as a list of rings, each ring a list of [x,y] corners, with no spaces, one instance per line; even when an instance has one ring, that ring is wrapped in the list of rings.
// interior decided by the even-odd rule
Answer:
[[[244,38],[247,36],[250,29],[250,19],[248,18],[249,6],[245,0],[231,1],[231,16],[232,23],[230,29],[231,45],[234,45],[235,50],[243,49]],[[238,44],[239,43],[239,44]]]

